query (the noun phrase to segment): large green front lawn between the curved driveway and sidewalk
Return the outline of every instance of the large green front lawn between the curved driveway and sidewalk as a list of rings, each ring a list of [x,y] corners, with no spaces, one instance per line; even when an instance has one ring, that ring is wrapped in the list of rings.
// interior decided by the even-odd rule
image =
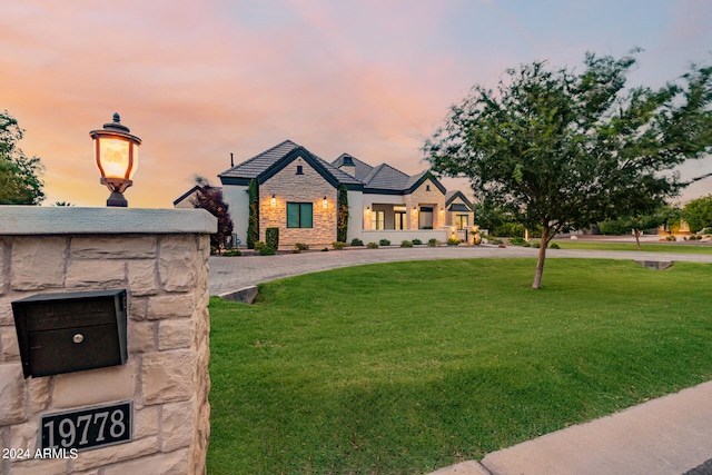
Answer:
[[[711,265],[395,263],[211,300],[208,469],[421,474],[712,379]]]

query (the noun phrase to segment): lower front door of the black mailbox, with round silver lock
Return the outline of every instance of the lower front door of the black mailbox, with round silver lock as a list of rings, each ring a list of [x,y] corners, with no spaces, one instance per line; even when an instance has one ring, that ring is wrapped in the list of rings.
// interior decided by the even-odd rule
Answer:
[[[49,376],[126,363],[116,325],[30,331],[30,370]]]

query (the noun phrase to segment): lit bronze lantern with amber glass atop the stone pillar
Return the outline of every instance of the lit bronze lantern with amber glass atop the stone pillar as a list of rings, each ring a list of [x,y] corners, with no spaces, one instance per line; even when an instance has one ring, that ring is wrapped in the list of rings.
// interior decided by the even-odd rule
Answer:
[[[141,139],[129,131],[128,127],[121,125],[119,115],[115,113],[113,121],[105,123],[103,129],[89,132],[93,140],[97,167],[101,172],[100,182],[111,191],[107,206],[128,206],[123,191],[134,184],[138,146],[141,145]]]

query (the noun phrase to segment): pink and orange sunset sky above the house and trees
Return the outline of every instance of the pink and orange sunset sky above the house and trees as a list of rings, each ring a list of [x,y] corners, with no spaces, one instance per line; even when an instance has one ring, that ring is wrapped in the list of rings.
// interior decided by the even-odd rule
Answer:
[[[448,107],[507,67],[641,47],[631,85],[660,87],[712,63],[711,26],[709,0],[8,0],[0,111],[46,166],[44,206],[105,206],[89,131],[119,112],[144,140],[129,206],[171,207],[286,139],[416,174]]]

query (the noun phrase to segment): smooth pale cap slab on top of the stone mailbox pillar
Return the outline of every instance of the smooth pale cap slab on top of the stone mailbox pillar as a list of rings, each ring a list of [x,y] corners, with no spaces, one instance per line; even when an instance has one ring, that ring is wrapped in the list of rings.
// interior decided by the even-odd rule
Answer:
[[[217,218],[205,209],[0,206],[0,236],[212,234],[217,228]]]

